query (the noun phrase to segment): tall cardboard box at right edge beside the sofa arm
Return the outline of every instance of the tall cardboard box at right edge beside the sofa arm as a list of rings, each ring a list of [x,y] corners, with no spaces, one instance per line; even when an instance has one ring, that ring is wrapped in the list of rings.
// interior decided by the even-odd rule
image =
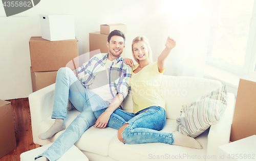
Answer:
[[[256,135],[256,71],[240,79],[230,141]]]

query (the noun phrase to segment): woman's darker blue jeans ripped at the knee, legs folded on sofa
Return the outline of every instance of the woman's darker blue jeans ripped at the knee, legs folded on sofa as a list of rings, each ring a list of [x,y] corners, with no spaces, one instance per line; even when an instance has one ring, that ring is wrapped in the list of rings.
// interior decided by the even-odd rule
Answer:
[[[94,111],[94,115],[98,118],[108,106],[98,107],[101,110]],[[159,106],[151,106],[136,114],[128,113],[117,109],[111,115],[108,126],[119,129],[125,123],[129,123],[123,133],[123,140],[126,144],[142,144],[142,143],[166,143],[174,144],[174,136],[172,133],[161,132],[166,121],[165,110]]]

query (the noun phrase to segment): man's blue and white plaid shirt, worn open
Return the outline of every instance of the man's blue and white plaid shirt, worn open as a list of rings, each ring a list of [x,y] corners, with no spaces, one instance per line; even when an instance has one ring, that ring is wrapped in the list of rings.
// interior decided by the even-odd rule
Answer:
[[[107,59],[108,53],[99,53],[76,69],[77,78],[85,88],[94,82],[99,71],[104,70]],[[117,93],[122,93],[124,98],[127,96],[131,76],[132,68],[124,63],[122,56],[113,61],[109,71],[109,85],[113,98]]]

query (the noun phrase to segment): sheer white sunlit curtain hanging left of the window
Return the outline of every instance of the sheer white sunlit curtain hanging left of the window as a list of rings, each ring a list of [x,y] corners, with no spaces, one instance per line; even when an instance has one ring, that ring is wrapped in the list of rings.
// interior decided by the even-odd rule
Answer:
[[[168,35],[176,39],[176,47],[166,60],[167,75],[203,77],[210,26],[212,1],[163,2],[168,15]]]

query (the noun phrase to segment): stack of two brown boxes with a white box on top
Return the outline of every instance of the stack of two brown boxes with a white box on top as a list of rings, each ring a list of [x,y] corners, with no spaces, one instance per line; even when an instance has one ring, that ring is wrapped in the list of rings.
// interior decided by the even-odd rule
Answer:
[[[29,40],[33,92],[54,84],[59,68],[75,69],[69,62],[78,57],[72,16],[40,15],[40,21],[42,37]]]

